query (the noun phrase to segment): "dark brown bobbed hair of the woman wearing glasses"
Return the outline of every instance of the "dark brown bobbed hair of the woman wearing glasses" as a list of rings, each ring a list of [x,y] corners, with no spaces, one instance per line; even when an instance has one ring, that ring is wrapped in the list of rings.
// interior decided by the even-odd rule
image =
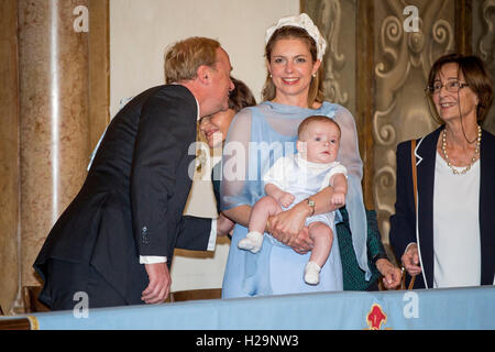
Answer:
[[[459,72],[462,72],[464,80],[477,97],[476,108],[477,121],[483,121],[488,113],[493,100],[493,82],[490,78],[483,61],[474,55],[448,54],[439,57],[431,66],[428,76],[428,87],[432,87],[438,73],[446,64],[458,64]],[[435,116],[438,121],[438,117]]]

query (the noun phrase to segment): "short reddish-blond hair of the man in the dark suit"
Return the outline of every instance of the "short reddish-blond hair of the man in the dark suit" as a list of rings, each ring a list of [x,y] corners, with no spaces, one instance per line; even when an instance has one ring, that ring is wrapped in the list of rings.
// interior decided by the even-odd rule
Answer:
[[[195,79],[199,66],[215,66],[219,47],[218,41],[201,36],[175,43],[165,53],[165,81],[172,84]]]

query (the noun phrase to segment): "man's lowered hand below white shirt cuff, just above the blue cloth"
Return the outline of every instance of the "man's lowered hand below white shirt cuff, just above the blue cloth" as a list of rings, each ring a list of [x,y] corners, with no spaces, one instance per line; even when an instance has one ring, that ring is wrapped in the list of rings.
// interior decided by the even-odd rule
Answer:
[[[141,299],[146,304],[163,302],[170,290],[170,274],[167,263],[144,264],[150,285],[143,290]]]

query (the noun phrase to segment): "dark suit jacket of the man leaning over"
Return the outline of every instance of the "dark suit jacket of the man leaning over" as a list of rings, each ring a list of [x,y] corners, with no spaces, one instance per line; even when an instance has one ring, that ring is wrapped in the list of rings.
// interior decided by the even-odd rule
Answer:
[[[169,265],[176,245],[206,250],[208,235],[182,231],[195,229],[183,211],[191,186],[188,169],[195,155],[188,155],[188,147],[196,140],[197,114],[193,94],[179,85],[151,88],[122,108],[82,188],[34,263],[43,279],[50,275],[50,258],[88,263],[129,304],[140,304],[147,285],[140,255],[167,256]]]

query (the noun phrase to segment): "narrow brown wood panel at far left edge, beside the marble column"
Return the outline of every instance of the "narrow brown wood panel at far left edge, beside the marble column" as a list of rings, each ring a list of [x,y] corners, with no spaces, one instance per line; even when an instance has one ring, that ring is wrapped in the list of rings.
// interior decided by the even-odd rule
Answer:
[[[0,307],[19,292],[18,2],[0,7]]]

